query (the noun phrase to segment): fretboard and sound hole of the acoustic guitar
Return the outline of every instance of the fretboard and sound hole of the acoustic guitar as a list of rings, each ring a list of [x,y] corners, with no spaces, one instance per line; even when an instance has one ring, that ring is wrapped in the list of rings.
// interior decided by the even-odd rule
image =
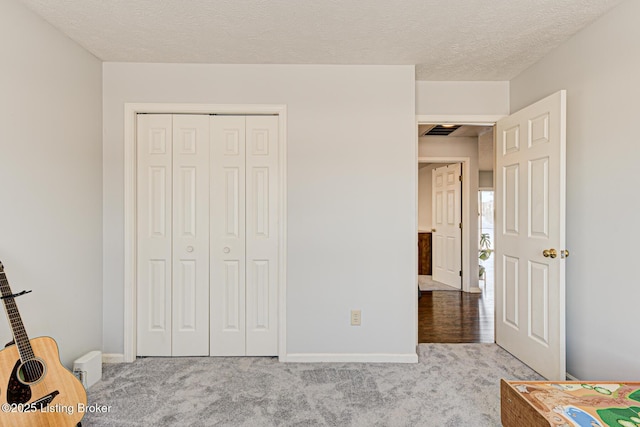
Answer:
[[[19,353],[24,353],[24,358],[26,359],[25,361],[22,361],[22,374],[24,376],[25,382],[34,382],[42,376],[44,371],[41,368],[40,363],[35,359],[35,354],[33,353],[31,343],[29,342],[29,337],[26,334],[24,324],[22,323],[22,319],[20,318],[20,313],[18,311],[18,306],[16,305],[15,298],[10,296],[12,295],[11,287],[9,286],[9,280],[7,279],[7,275],[4,270],[0,272],[0,289],[2,291],[2,295],[5,297],[3,299],[4,308],[7,313],[7,317],[9,318],[9,323],[11,323],[12,330],[14,331],[14,340],[16,342],[16,347],[18,348]],[[14,324],[17,325],[17,328],[19,329],[18,331],[15,331]],[[23,347],[22,352],[20,351],[21,345]]]

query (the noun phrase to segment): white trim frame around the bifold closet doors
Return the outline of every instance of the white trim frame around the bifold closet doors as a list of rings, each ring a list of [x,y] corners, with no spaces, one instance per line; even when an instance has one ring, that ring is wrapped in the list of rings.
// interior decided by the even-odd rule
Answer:
[[[287,302],[287,107],[255,104],[163,104],[126,103],[124,105],[124,361],[136,359],[137,283],[136,283],[136,116],[156,114],[273,114],[278,116],[279,145],[279,278],[278,357],[286,358]]]

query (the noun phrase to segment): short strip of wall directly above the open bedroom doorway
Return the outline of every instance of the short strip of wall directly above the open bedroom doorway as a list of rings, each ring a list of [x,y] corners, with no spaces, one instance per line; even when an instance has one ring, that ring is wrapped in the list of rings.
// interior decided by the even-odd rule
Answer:
[[[509,82],[416,82],[418,115],[507,115]]]

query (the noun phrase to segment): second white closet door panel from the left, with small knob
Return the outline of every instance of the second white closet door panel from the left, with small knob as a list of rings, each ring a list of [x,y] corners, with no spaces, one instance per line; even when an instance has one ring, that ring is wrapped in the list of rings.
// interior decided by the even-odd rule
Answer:
[[[209,116],[173,116],[172,355],[209,354]]]

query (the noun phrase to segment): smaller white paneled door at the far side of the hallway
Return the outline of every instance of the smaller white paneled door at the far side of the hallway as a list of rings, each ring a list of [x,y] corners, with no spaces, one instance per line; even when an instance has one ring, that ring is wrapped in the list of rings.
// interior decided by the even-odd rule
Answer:
[[[432,171],[433,280],[462,289],[461,165]]]

